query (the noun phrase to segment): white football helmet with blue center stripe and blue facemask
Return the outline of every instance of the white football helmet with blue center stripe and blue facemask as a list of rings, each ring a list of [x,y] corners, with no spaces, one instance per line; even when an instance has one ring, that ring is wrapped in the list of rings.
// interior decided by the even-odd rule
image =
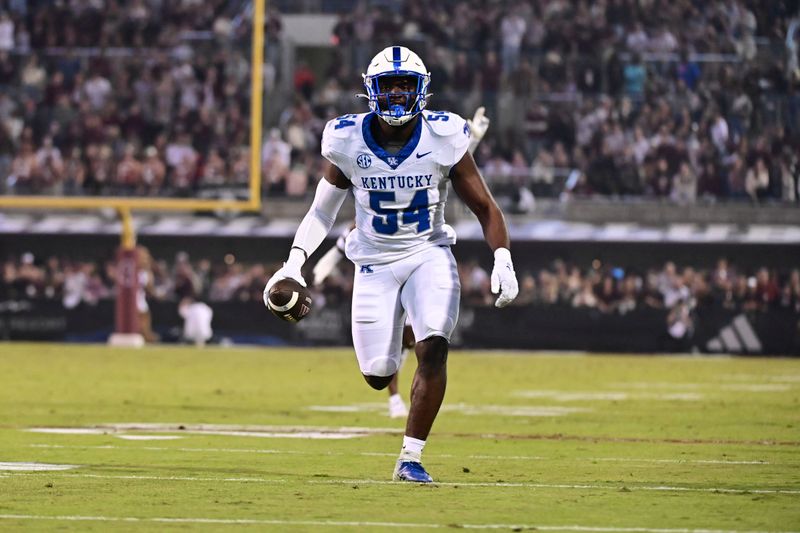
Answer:
[[[359,95],[369,100],[369,109],[390,126],[402,126],[417,116],[428,105],[428,84],[431,73],[422,59],[405,46],[384,48],[369,62],[367,72],[361,75],[367,94]],[[414,90],[392,92],[386,78],[411,78]],[[405,96],[405,104],[392,103]]]

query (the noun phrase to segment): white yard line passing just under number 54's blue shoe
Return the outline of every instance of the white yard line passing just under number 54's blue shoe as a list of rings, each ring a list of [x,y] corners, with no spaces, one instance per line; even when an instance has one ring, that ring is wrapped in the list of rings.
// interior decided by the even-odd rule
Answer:
[[[11,473],[9,477],[31,476],[31,473]],[[93,478],[93,479],[132,479],[149,481],[200,481],[200,482],[228,482],[228,483],[268,483],[282,484],[288,483],[286,479],[269,479],[259,477],[193,477],[193,476],[142,476],[142,475],[111,475],[111,474],[52,474],[49,477],[67,478]],[[330,479],[330,480],[306,480],[308,485],[402,485],[400,481],[383,481],[375,479]],[[525,488],[525,489],[577,489],[577,490],[613,490],[613,491],[657,491],[657,492],[707,492],[724,494],[800,494],[800,489],[771,489],[748,487],[744,489],[734,489],[730,487],[673,487],[667,485],[597,485],[597,484],[567,484],[567,483],[512,483],[512,482],[437,482],[436,485],[443,487],[496,487],[496,488]]]

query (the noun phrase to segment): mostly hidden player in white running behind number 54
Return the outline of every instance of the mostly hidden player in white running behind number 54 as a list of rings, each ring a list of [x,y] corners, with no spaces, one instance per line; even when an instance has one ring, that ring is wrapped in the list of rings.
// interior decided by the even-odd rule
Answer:
[[[484,107],[479,107],[475,111],[475,115],[467,120],[467,125],[469,126],[470,131],[470,141],[469,141],[469,148],[467,151],[470,154],[475,153],[475,148],[478,147],[480,144],[481,139],[483,136],[486,135],[486,130],[489,129],[489,118],[485,115],[486,109]],[[338,239],[336,239],[336,245],[333,246],[330,250],[328,250],[325,255],[323,255],[317,264],[314,265],[314,280],[313,284],[315,286],[319,286],[322,284],[325,279],[331,275],[333,270],[336,268],[336,265],[345,257],[344,255],[344,243],[347,235],[356,227],[355,222],[348,227]],[[455,230],[445,224],[444,230],[446,232],[452,233],[452,240],[453,244],[455,244],[456,239],[456,232]],[[402,339],[402,346],[403,352],[400,356],[400,367],[403,366],[403,362],[408,357],[409,350],[414,348],[415,339],[414,339],[414,330],[411,328],[411,324],[406,320],[406,325],[403,328],[403,339]],[[408,416],[408,409],[406,408],[406,404],[403,401],[403,397],[400,396],[400,389],[398,384],[398,376],[400,374],[400,370],[395,372],[394,378],[389,383],[389,386],[386,390],[389,392],[389,417],[390,418],[405,418]]]

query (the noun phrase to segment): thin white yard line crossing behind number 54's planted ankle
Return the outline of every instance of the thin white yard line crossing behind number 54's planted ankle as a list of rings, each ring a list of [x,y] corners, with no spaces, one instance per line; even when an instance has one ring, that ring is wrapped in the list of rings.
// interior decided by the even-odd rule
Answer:
[[[77,446],[62,444],[31,444],[31,448],[70,448],[78,450],[147,450],[147,451],[179,451],[190,453],[260,453],[267,455],[325,455],[325,456],[361,456],[361,457],[395,457],[396,453],[385,452],[300,452],[295,450],[275,450],[275,449],[256,449],[256,448],[177,448],[167,446],[115,446],[111,444],[98,446]],[[547,461],[548,457],[539,455],[453,455],[448,453],[436,454],[435,457],[452,459],[461,457],[463,459],[489,459],[489,460],[514,460],[514,461]],[[619,463],[675,463],[675,464],[719,464],[719,465],[770,465],[770,464],[794,464],[794,463],[770,463],[769,461],[730,461],[722,459],[638,459],[635,457],[582,457],[573,460],[582,461],[611,461]]]

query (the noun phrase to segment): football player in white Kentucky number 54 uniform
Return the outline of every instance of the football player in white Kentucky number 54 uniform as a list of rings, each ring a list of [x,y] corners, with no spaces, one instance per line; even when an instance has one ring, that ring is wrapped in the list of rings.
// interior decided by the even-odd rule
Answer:
[[[430,73],[402,46],[378,53],[363,75],[369,113],[331,120],[322,133],[327,170],[300,222],[289,257],[267,282],[292,278],[333,227],[352,189],[356,229],[345,253],[355,264],[352,331],[364,379],[378,390],[400,367],[408,315],[417,340],[417,369],[403,446],[393,479],[432,482],[422,451],[444,399],[447,353],[458,319],[461,286],[444,231],[448,183],[475,213],[494,253],[495,305],[518,292],[505,219],[467,148],[466,121],[446,111],[425,111]]]

